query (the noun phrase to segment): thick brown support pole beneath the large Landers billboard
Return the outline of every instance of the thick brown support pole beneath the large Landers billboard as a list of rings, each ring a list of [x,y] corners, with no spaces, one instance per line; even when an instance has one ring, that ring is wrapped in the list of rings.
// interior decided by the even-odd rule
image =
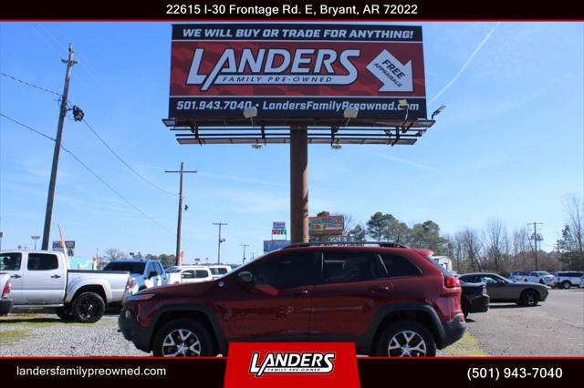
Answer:
[[[290,240],[308,242],[308,128],[290,128]]]

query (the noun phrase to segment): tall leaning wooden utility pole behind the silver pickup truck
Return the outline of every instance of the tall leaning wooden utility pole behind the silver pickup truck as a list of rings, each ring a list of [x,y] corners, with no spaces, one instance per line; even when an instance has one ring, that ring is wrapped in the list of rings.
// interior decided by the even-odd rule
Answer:
[[[43,250],[48,250],[48,239],[51,233],[51,219],[53,217],[53,200],[55,199],[55,185],[57,183],[58,155],[61,150],[61,137],[63,135],[63,124],[67,115],[67,100],[69,94],[69,80],[71,79],[71,67],[77,65],[78,61],[73,60],[73,45],[69,45],[68,60],[61,59],[67,64],[65,72],[65,86],[61,97],[61,108],[58,115],[57,138],[55,139],[55,151],[53,152],[53,167],[51,168],[51,179],[48,182],[47,212],[45,213],[45,229],[43,230]]]

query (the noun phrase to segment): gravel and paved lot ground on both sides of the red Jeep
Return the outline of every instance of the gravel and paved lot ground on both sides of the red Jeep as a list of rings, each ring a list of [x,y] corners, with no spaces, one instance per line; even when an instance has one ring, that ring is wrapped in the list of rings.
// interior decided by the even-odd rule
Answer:
[[[93,324],[50,313],[0,318],[0,356],[143,356],[117,332],[117,312]],[[537,307],[497,303],[469,316],[463,340],[441,356],[584,356],[584,290],[552,290]]]

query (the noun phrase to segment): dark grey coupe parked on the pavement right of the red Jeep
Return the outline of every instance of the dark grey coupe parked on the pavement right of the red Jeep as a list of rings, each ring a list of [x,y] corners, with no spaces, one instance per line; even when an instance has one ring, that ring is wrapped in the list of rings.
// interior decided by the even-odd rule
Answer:
[[[512,301],[523,306],[536,306],[539,301],[545,301],[549,293],[543,284],[509,281],[497,273],[465,273],[459,279],[471,283],[484,282],[491,302]]]

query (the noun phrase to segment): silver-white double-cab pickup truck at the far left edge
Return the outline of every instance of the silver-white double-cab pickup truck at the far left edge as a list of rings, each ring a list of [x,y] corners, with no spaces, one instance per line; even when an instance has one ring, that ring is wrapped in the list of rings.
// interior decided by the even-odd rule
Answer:
[[[69,270],[58,251],[0,251],[0,272],[10,275],[14,308],[57,308],[59,318],[78,322],[98,322],[130,289],[128,272]]]

